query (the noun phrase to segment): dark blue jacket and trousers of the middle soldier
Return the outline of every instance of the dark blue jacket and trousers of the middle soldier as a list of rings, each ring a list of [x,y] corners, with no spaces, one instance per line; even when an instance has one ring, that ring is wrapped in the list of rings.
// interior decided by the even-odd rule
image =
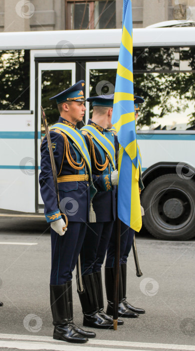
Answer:
[[[107,133],[110,133],[91,120],[88,121],[88,124],[97,128],[105,136]],[[110,133],[110,135],[111,134],[112,133]],[[90,152],[90,143],[86,134],[85,140]],[[105,162],[104,150],[94,139],[92,139],[92,141],[96,160],[99,164],[103,164]],[[112,142],[114,143],[113,134]],[[99,272],[101,270],[101,265],[112,233],[113,221],[115,220],[115,187],[111,186],[105,191],[105,184],[103,182],[104,175],[106,174],[111,184],[111,164],[109,162],[108,166],[103,171],[100,171],[97,169],[91,154],[91,169],[93,184],[97,189],[97,193],[93,198],[93,209],[96,215],[96,223],[89,223],[87,225],[86,235],[80,252],[81,270],[83,275]]]

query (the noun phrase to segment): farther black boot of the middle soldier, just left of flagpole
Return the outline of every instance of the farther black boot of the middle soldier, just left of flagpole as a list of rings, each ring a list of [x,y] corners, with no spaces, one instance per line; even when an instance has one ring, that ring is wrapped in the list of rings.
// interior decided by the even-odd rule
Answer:
[[[99,314],[109,322],[113,323],[113,318],[108,316],[104,310],[103,310],[103,287],[102,287],[102,279],[101,279],[101,271],[93,273],[93,279],[95,283],[95,290],[96,290],[96,296],[97,296],[97,304],[99,307]],[[124,324],[123,320],[118,319],[117,320],[118,325]]]

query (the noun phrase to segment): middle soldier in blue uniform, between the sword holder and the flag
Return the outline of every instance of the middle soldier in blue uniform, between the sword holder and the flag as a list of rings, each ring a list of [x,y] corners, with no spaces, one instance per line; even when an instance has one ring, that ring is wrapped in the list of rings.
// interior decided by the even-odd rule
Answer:
[[[107,125],[112,114],[113,99],[96,96],[92,101],[92,119],[81,130],[85,135],[91,156],[92,174],[97,194],[93,198],[96,223],[87,225],[86,235],[80,252],[84,294],[79,294],[83,325],[95,328],[113,328],[113,320],[103,311],[101,265],[115,220],[115,169],[114,134]],[[118,320],[118,324],[123,321]]]

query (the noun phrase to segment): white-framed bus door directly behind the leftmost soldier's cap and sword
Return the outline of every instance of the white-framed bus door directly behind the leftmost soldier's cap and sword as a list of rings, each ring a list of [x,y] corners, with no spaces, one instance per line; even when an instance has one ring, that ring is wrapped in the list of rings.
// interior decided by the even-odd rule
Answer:
[[[69,88],[75,83],[75,63],[38,63],[37,79],[37,176],[36,176],[36,211],[43,212],[43,202],[40,196],[38,176],[40,173],[40,143],[44,137],[44,127],[41,120],[40,106],[43,107],[48,126],[56,123],[59,117],[56,101],[49,98]]]

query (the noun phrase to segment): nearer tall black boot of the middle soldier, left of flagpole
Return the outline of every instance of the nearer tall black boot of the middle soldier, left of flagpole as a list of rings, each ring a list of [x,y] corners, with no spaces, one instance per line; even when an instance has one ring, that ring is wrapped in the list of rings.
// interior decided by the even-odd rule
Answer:
[[[82,284],[84,293],[78,293],[78,295],[82,306],[83,325],[100,329],[113,329],[113,322],[104,319],[98,313],[93,274],[83,275]]]

